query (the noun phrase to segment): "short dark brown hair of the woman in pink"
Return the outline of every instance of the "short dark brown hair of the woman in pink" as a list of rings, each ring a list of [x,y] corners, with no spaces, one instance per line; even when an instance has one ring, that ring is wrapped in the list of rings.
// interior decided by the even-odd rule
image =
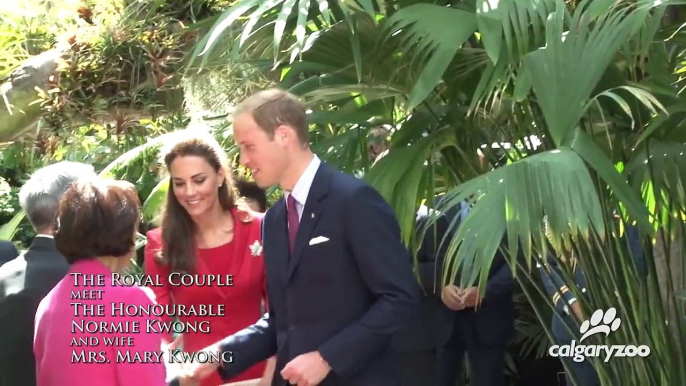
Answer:
[[[64,194],[53,225],[55,245],[70,264],[127,256],[140,221],[136,188],[126,181],[89,179]]]

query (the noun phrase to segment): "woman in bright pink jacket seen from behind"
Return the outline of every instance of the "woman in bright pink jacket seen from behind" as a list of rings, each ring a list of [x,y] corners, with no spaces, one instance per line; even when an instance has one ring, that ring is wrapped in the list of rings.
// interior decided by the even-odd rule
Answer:
[[[62,198],[55,244],[71,268],[36,312],[38,386],[167,385],[161,336],[147,331],[154,318],[140,311],[154,304],[152,294],[113,280],[129,265],[139,217],[127,182],[80,182]]]

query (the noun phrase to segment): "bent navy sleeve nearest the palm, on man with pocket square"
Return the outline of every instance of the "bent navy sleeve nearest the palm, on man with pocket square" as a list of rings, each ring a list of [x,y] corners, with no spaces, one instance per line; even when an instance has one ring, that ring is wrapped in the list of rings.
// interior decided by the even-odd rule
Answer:
[[[390,344],[419,307],[419,288],[393,210],[373,188],[359,189],[345,208],[346,240],[376,302],[319,347],[332,371],[352,376]]]

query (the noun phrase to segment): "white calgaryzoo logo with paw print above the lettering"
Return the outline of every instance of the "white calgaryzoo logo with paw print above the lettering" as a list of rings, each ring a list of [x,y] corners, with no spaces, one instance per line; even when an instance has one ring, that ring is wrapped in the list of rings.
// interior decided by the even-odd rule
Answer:
[[[617,310],[612,307],[607,311],[596,310],[593,315],[591,315],[590,320],[585,320],[579,332],[582,334],[581,339],[577,343],[576,340],[572,340],[571,344],[566,345],[554,345],[548,350],[550,356],[561,357],[561,358],[573,358],[575,362],[581,362],[584,357],[605,357],[605,362],[608,362],[612,357],[635,357],[636,355],[640,357],[647,357],[650,355],[650,347],[646,345],[634,346],[634,345],[583,345],[579,344],[583,342],[589,336],[604,333],[605,336],[610,335],[610,332],[617,331],[622,321],[617,317]]]

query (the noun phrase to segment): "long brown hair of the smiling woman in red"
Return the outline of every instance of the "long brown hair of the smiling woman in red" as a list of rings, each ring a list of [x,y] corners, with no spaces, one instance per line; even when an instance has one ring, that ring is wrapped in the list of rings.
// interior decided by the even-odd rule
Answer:
[[[202,157],[215,172],[224,171],[224,182],[219,187],[219,205],[225,211],[238,206],[238,193],[235,190],[231,173],[227,171],[227,157],[219,143],[211,135],[191,134],[175,142],[163,151],[164,163],[170,170],[172,162],[178,157]],[[181,206],[174,195],[172,180],[169,179],[167,203],[162,216],[162,253],[158,261],[170,265],[173,271],[190,273],[195,268],[195,222]],[[243,210],[243,205],[240,205]]]

